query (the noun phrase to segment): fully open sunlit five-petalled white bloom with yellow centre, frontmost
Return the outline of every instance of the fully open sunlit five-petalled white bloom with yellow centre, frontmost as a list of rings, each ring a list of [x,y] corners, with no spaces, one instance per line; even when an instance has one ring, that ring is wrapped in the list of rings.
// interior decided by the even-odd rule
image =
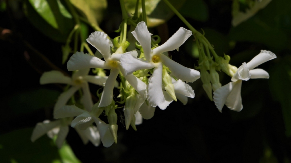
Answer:
[[[137,59],[135,56],[125,54],[120,58],[121,66],[125,69],[125,75],[132,74],[140,69],[152,69],[152,77],[148,87],[148,101],[151,106],[156,107],[165,102],[162,91],[162,69],[165,64],[172,75],[186,82],[194,82],[200,78],[199,71],[189,69],[168,58],[163,52],[178,50],[179,47],[192,35],[190,30],[181,27],[166,43],[151,49],[151,35],[145,22],[139,22],[132,32],[135,39],[141,44],[146,61]]]

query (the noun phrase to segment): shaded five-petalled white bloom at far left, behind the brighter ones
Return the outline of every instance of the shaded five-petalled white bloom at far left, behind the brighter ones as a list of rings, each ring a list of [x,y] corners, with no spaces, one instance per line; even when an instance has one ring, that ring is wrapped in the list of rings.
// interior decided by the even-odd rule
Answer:
[[[69,76],[65,76],[64,74],[62,74],[62,72],[55,70],[42,74],[39,80],[40,84],[61,83],[72,85],[71,88],[69,88],[67,91],[63,92],[59,96],[55,104],[54,110],[58,110],[59,108],[65,106],[65,104],[67,104],[67,102],[69,101],[70,97],[72,97],[72,95],[80,88],[82,88],[83,90],[83,97],[81,101],[85,109],[88,111],[92,109],[93,102],[88,82],[96,85],[103,85],[106,82],[108,76],[88,75],[89,71],[90,69],[79,70],[72,75],[72,78],[70,78]],[[115,87],[118,86],[118,82],[116,82],[115,80],[113,80],[113,84],[115,85]]]

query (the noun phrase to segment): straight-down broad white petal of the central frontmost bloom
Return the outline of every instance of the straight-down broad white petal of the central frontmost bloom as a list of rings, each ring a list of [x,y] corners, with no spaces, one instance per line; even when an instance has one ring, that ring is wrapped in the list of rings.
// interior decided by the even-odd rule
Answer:
[[[149,81],[148,101],[152,107],[156,107],[165,102],[165,97],[162,91],[162,68],[162,64],[155,67]]]

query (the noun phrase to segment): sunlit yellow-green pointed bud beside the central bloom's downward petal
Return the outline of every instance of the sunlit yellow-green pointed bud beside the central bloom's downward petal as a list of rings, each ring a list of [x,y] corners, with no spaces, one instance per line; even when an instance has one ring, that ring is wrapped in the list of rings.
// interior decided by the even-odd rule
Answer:
[[[163,66],[162,81],[165,86],[166,92],[172,97],[173,100],[177,101],[174,85],[172,83],[172,78],[168,74],[166,66]]]

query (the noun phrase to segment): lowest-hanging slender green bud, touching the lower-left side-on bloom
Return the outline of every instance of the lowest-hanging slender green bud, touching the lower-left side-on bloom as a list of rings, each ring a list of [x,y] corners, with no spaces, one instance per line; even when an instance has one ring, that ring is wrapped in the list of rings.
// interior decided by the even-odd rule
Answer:
[[[108,113],[108,122],[109,122],[109,130],[111,135],[113,136],[114,142],[117,143],[117,114],[115,113],[115,109],[111,108]]]

